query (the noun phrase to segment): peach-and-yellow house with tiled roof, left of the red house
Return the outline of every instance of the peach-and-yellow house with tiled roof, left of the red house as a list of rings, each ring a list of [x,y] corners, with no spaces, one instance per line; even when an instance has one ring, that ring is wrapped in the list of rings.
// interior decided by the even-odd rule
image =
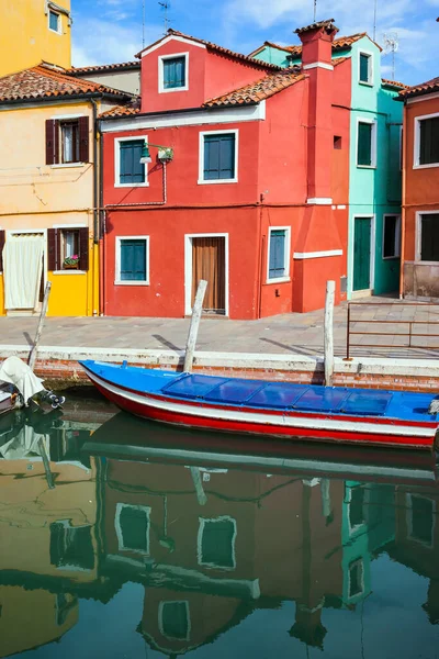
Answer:
[[[48,64],[0,79],[0,314],[37,313],[48,280],[49,315],[99,314],[97,118],[131,100]]]

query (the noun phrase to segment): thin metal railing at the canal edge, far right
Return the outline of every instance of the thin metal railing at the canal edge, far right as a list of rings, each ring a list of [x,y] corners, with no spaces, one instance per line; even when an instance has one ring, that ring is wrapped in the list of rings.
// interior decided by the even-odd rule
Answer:
[[[396,319],[375,319],[367,317],[365,312],[369,309],[376,313],[378,309],[392,308],[397,315],[407,313],[407,310],[413,310],[412,317],[404,320]],[[361,310],[361,317],[358,317],[356,311]],[[402,313],[401,313],[402,312]],[[427,314],[428,317],[420,317]],[[418,315],[418,317],[416,317]],[[432,316],[432,319],[431,319]],[[436,320],[437,319],[437,320]],[[374,331],[375,326],[380,326],[383,331]],[[424,327],[419,327],[424,326]],[[405,326],[405,327],[404,327]],[[437,333],[427,331],[426,327],[434,327]],[[372,327],[372,330],[371,330]],[[393,331],[391,330],[393,328]],[[404,331],[404,328],[406,331]],[[421,331],[424,328],[424,332]],[[376,327],[378,330],[378,327]],[[417,331],[419,330],[419,332]],[[352,337],[383,337],[393,336],[405,343],[382,343],[375,340],[374,343],[354,343]],[[426,342],[426,338],[437,339],[436,345],[430,345]],[[420,342],[418,339],[421,339]],[[372,339],[371,339],[372,340]],[[439,304],[431,304],[428,302],[414,302],[414,303],[387,303],[387,302],[349,302],[348,303],[348,320],[346,331],[346,359],[351,359],[352,348],[399,348],[403,350],[409,350],[417,348],[418,350],[439,350]],[[410,356],[410,355],[408,355]],[[416,355],[417,357],[419,354]],[[412,357],[412,356],[410,356]]]

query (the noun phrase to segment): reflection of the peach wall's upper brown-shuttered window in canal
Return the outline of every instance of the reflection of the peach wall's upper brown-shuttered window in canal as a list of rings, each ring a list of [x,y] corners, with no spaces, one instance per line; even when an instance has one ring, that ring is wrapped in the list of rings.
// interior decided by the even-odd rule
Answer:
[[[50,563],[57,568],[92,570],[91,526],[70,526],[66,520],[50,524]]]

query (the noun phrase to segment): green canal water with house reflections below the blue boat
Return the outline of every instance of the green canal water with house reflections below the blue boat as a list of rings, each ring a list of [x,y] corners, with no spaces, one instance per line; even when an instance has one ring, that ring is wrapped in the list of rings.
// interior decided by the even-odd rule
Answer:
[[[431,456],[0,417],[0,657],[439,657]]]

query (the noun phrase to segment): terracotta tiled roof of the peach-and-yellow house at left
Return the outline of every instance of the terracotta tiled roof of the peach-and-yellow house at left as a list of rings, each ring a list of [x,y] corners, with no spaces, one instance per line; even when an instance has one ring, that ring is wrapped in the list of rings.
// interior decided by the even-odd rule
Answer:
[[[97,93],[117,97],[119,99],[132,98],[132,94],[117,89],[68,76],[64,69],[47,64],[41,64],[0,78],[1,103]]]

